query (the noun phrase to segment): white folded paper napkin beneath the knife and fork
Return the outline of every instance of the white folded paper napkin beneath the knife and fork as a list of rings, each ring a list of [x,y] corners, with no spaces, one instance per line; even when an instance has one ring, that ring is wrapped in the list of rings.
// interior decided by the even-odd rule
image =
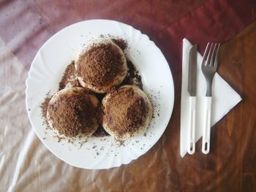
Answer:
[[[187,39],[183,39],[182,54],[182,84],[181,84],[181,157],[187,153],[188,145],[188,127],[189,127],[189,50],[192,47]],[[203,112],[206,110],[204,104],[206,96],[206,80],[201,71],[202,55],[197,53],[197,106],[196,106],[196,124],[195,141],[197,142],[203,135],[203,125],[205,119]],[[241,101],[241,96],[227,84],[219,74],[214,75],[212,82],[212,107],[211,107],[211,126],[214,126],[224,115]],[[211,146],[211,145],[210,145]],[[201,150],[200,150],[201,151]],[[211,149],[210,149],[211,153]]]

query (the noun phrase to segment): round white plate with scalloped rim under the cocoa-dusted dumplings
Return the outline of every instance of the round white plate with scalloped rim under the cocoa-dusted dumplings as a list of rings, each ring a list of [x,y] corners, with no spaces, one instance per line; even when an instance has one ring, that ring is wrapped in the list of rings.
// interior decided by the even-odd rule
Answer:
[[[91,137],[80,146],[45,134],[40,104],[46,93],[58,90],[64,69],[83,50],[83,46],[100,35],[126,39],[127,57],[135,64],[143,80],[143,88],[154,105],[154,118],[146,136],[133,137],[118,144],[112,137]],[[26,108],[29,120],[39,139],[61,160],[84,169],[108,169],[129,164],[146,153],[162,136],[173,111],[173,77],[159,48],[132,26],[113,20],[86,20],[68,26],[48,39],[39,49],[26,80]]]

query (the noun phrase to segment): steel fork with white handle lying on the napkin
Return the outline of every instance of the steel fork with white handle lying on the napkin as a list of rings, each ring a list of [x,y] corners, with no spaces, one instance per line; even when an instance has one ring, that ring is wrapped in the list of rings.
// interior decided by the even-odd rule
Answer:
[[[205,53],[203,54],[202,61],[202,72],[206,78],[206,113],[205,120],[206,123],[203,126],[203,142],[202,142],[202,152],[208,154],[210,151],[210,136],[211,136],[211,84],[214,78],[214,74],[217,71],[219,57],[219,44],[209,43],[206,46]]]

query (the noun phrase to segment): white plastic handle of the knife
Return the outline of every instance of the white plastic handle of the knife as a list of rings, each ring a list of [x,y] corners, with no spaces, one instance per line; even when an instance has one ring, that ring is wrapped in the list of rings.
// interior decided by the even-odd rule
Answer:
[[[190,155],[195,153],[195,107],[196,97],[189,96],[189,140],[187,153]]]

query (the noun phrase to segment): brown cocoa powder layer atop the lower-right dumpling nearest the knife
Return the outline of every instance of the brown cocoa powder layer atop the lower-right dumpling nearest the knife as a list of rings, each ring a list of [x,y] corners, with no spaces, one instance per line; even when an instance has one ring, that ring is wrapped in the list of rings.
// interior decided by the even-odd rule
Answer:
[[[147,112],[143,98],[132,88],[119,88],[110,94],[111,97],[105,106],[108,126],[115,130],[119,137],[138,131],[138,128],[143,125]]]

